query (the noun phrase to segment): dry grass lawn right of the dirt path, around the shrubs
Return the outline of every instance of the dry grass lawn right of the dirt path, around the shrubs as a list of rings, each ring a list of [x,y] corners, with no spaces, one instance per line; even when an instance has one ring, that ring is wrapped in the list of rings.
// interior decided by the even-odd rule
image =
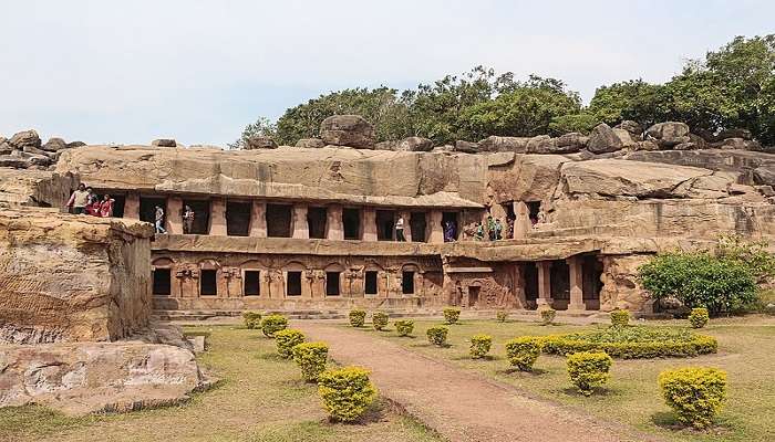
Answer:
[[[371,333],[400,343],[409,349],[446,360],[465,369],[477,370],[490,378],[510,383],[529,394],[548,398],[586,410],[612,421],[657,433],[675,441],[773,441],[772,425],[775,412],[775,320],[761,316],[732,319],[713,319],[701,333],[719,339],[719,354],[696,358],[670,358],[651,360],[614,360],[612,379],[607,389],[597,396],[585,398],[574,391],[568,380],[565,358],[541,355],[535,371],[524,373],[510,370],[505,359],[504,343],[523,335],[547,335],[581,332],[602,326],[554,325],[538,323],[497,323],[495,320],[463,320],[450,326],[451,347],[440,348],[427,344],[425,330],[441,320],[415,322],[414,338],[401,338],[392,329]],[[659,326],[683,327],[685,322],[647,323]],[[370,324],[366,324],[369,326]],[[469,338],[479,333],[493,336],[489,360],[472,360],[468,356]],[[676,429],[671,410],[664,404],[657,376],[660,371],[683,366],[719,367],[728,373],[728,401],[721,413],[719,424],[707,433]]]

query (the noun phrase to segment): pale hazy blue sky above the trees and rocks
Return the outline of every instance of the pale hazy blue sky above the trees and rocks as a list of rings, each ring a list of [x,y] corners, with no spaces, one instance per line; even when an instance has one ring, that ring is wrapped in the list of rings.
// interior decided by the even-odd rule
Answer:
[[[772,0],[0,0],[0,135],[224,145],[321,93],[413,87],[483,64],[601,84],[663,82]]]

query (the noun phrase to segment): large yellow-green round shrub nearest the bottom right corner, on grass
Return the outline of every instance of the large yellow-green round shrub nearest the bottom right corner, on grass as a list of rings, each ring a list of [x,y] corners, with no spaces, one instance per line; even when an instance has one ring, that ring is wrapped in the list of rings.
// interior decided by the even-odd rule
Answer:
[[[713,423],[726,398],[726,372],[717,368],[665,370],[658,383],[678,420],[696,429]]]

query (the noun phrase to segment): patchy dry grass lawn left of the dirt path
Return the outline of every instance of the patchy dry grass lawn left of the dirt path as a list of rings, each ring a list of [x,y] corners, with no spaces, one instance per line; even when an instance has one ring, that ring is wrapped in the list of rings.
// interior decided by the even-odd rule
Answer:
[[[180,407],[68,418],[42,407],[0,409],[0,441],[436,441],[380,402],[365,423],[329,423],[313,385],[259,330],[218,326],[199,357],[223,382]]]

